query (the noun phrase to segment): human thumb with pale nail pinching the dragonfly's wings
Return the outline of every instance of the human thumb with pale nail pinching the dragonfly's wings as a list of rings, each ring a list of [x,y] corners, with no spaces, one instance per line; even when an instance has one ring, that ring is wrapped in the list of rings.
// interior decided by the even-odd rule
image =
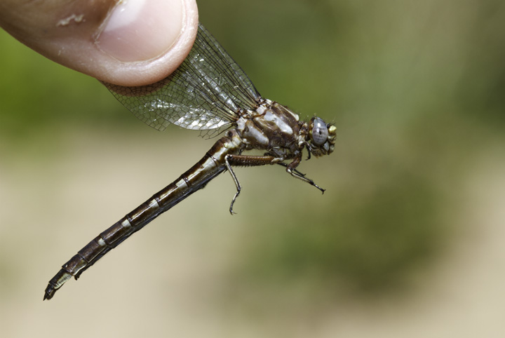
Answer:
[[[186,58],[198,10],[195,0],[0,0],[0,26],[61,65],[142,86]]]

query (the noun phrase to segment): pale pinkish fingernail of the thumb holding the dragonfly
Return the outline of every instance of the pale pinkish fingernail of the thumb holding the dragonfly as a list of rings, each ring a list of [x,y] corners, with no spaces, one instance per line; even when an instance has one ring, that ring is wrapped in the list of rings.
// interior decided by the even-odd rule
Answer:
[[[107,18],[97,46],[123,62],[158,58],[180,35],[183,6],[182,0],[121,1]]]

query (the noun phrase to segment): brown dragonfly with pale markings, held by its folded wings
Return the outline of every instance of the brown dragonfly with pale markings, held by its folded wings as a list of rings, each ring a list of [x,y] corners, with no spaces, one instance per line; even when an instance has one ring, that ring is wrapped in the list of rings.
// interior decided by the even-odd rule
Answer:
[[[198,163],[112,227],[84,246],[49,281],[43,299],[51,299],[70,278],[81,276],[107,252],[142,229],[153,219],[193,194],[224,171],[231,174],[236,193],[229,212],[241,193],[234,166],[282,165],[292,177],[314,181],[297,170],[302,152],[319,157],[335,149],[336,128],[314,116],[299,116],[278,102],[264,99],[248,76],[203,25],[198,24],[194,46],[173,74],[136,87],[103,83],[127,109],[157,130],[170,124],[207,135],[224,134]],[[260,150],[263,155],[246,154]]]

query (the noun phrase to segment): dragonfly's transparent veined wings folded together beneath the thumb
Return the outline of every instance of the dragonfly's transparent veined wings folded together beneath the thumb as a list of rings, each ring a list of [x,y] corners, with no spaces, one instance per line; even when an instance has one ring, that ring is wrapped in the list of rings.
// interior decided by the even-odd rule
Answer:
[[[226,128],[240,109],[255,109],[261,96],[248,76],[203,25],[179,68],[148,86],[104,83],[126,108],[149,126],[170,123],[187,129]]]

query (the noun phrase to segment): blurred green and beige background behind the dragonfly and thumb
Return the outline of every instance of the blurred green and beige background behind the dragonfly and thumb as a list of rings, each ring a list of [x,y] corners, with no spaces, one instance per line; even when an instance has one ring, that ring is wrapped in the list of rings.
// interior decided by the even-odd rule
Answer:
[[[264,97],[336,124],[300,170],[221,175],[50,302],[83,245],[213,144],[0,32],[3,337],[505,334],[505,4],[198,3]],[[97,333],[100,332],[100,333]]]

